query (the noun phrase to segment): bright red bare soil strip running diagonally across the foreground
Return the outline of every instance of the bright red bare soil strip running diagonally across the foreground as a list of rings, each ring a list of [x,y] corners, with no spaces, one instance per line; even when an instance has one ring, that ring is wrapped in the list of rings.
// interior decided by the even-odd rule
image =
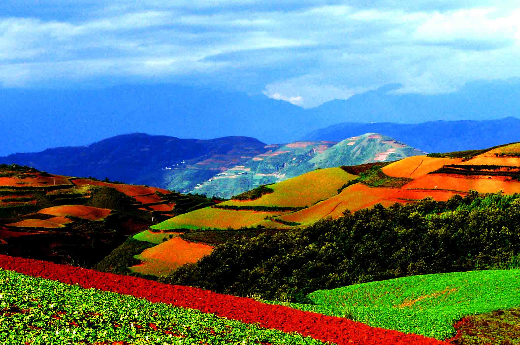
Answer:
[[[264,304],[249,298],[221,295],[200,288],[161,284],[142,278],[101,273],[46,261],[0,255],[0,267],[23,274],[58,280],[66,284],[79,284],[84,288],[97,288],[119,294],[133,295],[150,302],[162,302],[173,304],[176,307],[199,309],[203,313],[213,313],[220,317],[228,317],[248,324],[256,323],[261,327],[275,328],[286,333],[296,332],[305,337],[310,336],[316,340],[340,345],[410,343],[433,345],[444,343],[423,336],[369,327],[341,317],[325,316],[284,306]],[[80,306],[76,307],[79,308]],[[292,344],[295,342],[282,341],[278,343]]]

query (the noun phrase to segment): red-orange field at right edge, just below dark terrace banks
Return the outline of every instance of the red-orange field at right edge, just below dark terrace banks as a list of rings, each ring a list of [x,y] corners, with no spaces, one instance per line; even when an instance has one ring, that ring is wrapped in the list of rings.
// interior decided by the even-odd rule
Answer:
[[[466,176],[448,174],[426,175],[407,184],[408,189],[448,189],[453,191],[469,192],[471,189],[480,193],[494,193],[502,190],[505,194],[520,193],[520,182],[506,181],[508,177],[493,176]]]

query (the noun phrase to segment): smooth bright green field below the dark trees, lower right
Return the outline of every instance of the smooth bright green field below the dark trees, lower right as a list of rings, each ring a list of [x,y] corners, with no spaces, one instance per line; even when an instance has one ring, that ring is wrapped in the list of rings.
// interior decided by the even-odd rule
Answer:
[[[520,270],[470,271],[318,290],[289,306],[444,340],[463,316],[520,306]],[[284,303],[284,305],[288,305]]]

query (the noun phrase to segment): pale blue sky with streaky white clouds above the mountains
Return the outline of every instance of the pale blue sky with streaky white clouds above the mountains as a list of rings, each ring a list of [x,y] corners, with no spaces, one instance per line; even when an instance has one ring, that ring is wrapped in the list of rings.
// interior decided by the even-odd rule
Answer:
[[[518,0],[69,3],[0,2],[0,87],[172,82],[308,108],[520,76]]]

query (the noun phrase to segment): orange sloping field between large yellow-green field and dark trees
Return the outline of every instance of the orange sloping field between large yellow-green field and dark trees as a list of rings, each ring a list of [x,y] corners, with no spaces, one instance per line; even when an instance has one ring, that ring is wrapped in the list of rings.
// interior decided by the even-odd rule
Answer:
[[[309,224],[324,217],[339,218],[347,209],[354,212],[375,205],[397,191],[395,188],[372,188],[362,183],[356,183],[345,188],[340,194],[314,206],[278,218],[302,224]],[[392,202],[391,205],[394,203]]]

